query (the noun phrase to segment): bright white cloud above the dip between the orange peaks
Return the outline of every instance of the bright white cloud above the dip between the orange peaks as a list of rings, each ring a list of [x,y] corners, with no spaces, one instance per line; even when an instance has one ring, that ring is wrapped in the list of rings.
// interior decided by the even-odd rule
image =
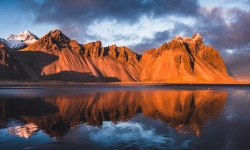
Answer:
[[[154,34],[157,32],[173,30],[177,22],[193,25],[196,21],[191,17],[176,18],[175,16],[158,19],[144,16],[135,24],[124,24],[116,20],[95,21],[88,26],[87,31],[92,38],[86,39],[87,41],[85,42],[101,40],[105,46],[114,43],[119,46],[136,45],[141,43],[145,38],[154,38]]]

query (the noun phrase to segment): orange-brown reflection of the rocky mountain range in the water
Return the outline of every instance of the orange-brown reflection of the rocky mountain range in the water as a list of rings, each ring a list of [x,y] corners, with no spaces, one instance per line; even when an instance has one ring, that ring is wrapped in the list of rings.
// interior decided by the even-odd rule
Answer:
[[[145,90],[112,91],[75,97],[50,97],[43,100],[45,103],[43,105],[50,106],[46,109],[51,115],[44,113],[32,119],[26,119],[27,117],[21,119],[34,123],[49,135],[57,137],[62,136],[63,132],[80,122],[99,126],[103,121],[126,121],[137,113],[142,113],[169,123],[182,133],[195,132],[199,135],[204,123],[223,108],[226,96],[226,92],[209,90]],[[9,107],[15,105],[13,103]],[[0,106],[7,107],[7,105]],[[2,110],[9,110],[9,108]],[[28,116],[34,114],[38,113],[30,112]]]

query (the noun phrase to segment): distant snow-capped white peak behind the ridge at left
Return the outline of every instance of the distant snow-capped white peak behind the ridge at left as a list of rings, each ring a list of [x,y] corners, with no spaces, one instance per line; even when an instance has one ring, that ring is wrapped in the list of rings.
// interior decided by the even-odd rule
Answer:
[[[11,34],[7,38],[7,40],[22,41],[27,45],[30,45],[30,44],[36,42],[38,39],[39,38],[36,35],[34,35],[33,33],[31,33],[30,31],[27,31],[27,30],[24,32],[21,32],[17,35]]]

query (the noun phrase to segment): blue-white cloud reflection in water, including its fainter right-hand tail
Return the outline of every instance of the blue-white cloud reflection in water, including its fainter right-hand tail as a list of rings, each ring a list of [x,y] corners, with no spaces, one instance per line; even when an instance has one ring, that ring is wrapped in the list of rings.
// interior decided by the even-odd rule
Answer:
[[[87,126],[90,131],[89,138],[102,147],[147,149],[159,148],[188,148],[191,140],[177,140],[178,136],[172,128],[165,133],[156,132],[156,128],[145,129],[137,122],[119,122],[114,124],[105,121],[101,128]],[[166,134],[168,133],[168,134]],[[126,147],[120,147],[126,145]]]

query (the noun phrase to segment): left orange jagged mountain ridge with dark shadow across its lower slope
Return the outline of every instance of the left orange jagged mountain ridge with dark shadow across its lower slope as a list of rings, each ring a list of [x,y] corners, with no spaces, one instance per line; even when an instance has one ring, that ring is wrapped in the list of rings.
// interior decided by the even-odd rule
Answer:
[[[38,53],[49,56],[33,56]],[[106,82],[139,81],[139,55],[127,47],[103,47],[100,41],[81,45],[53,30],[23,49],[21,60],[45,80]]]

